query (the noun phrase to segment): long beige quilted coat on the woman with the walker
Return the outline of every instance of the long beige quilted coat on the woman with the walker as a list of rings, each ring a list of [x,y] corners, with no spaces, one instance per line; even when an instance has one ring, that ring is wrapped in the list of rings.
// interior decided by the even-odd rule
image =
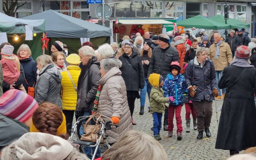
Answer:
[[[100,92],[98,111],[105,120],[112,116],[120,118],[118,127],[107,131],[108,143],[116,143],[120,136],[132,130],[132,117],[128,107],[126,87],[119,68],[111,68],[101,79],[103,85]]]

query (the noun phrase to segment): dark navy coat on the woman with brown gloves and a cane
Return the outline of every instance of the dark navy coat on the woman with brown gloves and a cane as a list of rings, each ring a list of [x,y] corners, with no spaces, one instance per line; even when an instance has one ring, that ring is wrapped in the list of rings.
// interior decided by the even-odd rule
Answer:
[[[194,64],[194,67],[193,67]],[[192,66],[192,67],[191,67]],[[215,68],[211,60],[206,59],[203,68],[199,66],[197,58],[188,63],[185,72],[186,86],[196,86],[195,97],[188,96],[188,100],[201,101],[201,100],[214,100],[212,90],[217,88]]]

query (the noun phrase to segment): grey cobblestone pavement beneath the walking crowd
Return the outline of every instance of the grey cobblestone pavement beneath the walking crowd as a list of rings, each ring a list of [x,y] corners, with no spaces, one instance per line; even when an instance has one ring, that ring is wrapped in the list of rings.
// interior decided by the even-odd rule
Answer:
[[[217,110],[218,116],[220,117],[220,108],[222,106],[223,100],[217,100]],[[217,137],[217,119],[216,119],[216,109],[215,102],[212,103],[213,113],[212,113],[212,122],[210,126],[210,131],[212,136],[207,138],[204,132],[203,140],[196,140],[196,136],[198,134],[197,131],[193,130],[193,122],[190,124],[190,133],[186,133],[186,121],[185,121],[185,106],[182,107],[181,110],[181,119],[182,119],[182,140],[177,140],[176,136],[176,120],[174,116],[174,130],[173,137],[167,137],[168,131],[162,129],[160,131],[160,135],[162,140],[160,140],[160,144],[164,147],[168,159],[172,160],[197,160],[197,159],[206,159],[206,160],[222,160],[227,159],[229,157],[228,150],[220,150],[215,149],[215,142]],[[140,99],[135,101],[135,110],[133,113],[133,120],[137,123],[137,125],[133,125],[133,129],[141,132],[148,133],[153,136],[153,131],[151,131],[151,127],[153,126],[153,118],[150,113],[148,113],[148,109],[146,106],[149,106],[149,101],[146,100],[145,112],[144,115],[139,115],[140,112]],[[192,118],[192,115],[190,116]],[[162,123],[164,122],[164,116],[162,119]]]

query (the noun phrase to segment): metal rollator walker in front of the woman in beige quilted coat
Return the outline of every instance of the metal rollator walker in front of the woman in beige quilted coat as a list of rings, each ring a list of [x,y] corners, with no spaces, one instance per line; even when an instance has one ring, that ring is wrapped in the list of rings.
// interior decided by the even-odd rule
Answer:
[[[84,141],[84,140],[80,140],[79,136],[77,134],[77,125],[81,122],[84,122],[84,120],[89,119],[90,116],[81,116],[77,119],[76,123],[73,124],[72,128],[71,128],[71,135],[69,137],[68,140],[73,141],[73,143],[75,144],[79,144],[79,150],[80,152],[84,152],[84,147],[95,147],[95,151],[93,153],[92,156],[92,160],[95,158],[97,150],[100,146],[106,146],[106,148],[110,148],[110,145],[108,144],[107,138],[108,138],[108,134],[106,133],[107,130],[111,130],[113,126],[118,127],[117,125],[113,125],[112,121],[104,121],[104,120],[100,120],[98,119],[98,123],[101,125],[100,131],[97,133],[99,135],[99,139],[96,142],[92,142],[92,141]],[[94,117],[92,120],[94,120],[96,122],[97,117]],[[77,140],[72,140],[74,135],[76,135]],[[100,143],[101,139],[104,140],[104,143]]]

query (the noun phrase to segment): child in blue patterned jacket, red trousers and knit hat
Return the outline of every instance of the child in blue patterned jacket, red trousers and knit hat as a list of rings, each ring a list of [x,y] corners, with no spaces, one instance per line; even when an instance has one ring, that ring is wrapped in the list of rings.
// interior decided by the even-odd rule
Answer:
[[[184,104],[183,93],[188,90],[185,84],[185,77],[180,74],[180,64],[175,61],[171,63],[171,73],[169,73],[163,84],[164,97],[173,97],[174,101],[170,102],[168,107],[168,137],[172,137],[173,133],[173,117],[175,113],[177,122],[177,140],[182,139],[182,121],[181,107]]]

